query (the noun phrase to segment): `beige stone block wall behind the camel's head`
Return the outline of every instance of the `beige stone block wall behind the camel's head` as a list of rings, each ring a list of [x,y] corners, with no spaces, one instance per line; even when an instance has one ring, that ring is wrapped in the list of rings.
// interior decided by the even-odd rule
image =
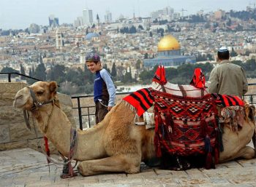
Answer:
[[[31,130],[26,127],[23,111],[12,106],[18,90],[26,87],[23,82],[0,82],[0,151],[13,148],[33,148],[41,150],[42,134],[37,129],[34,119],[29,117]],[[72,126],[75,120],[72,117],[72,100],[68,95],[58,93],[61,108],[67,114]],[[31,115],[30,115],[31,116]],[[50,145],[50,151],[53,151]]]

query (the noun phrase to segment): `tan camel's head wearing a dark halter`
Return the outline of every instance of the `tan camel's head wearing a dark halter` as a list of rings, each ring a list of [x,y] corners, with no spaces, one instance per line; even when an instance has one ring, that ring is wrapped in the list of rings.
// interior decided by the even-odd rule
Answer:
[[[24,87],[17,92],[13,106],[33,111],[43,103],[49,103],[53,100],[56,96],[57,87],[56,81],[37,81],[30,87]]]

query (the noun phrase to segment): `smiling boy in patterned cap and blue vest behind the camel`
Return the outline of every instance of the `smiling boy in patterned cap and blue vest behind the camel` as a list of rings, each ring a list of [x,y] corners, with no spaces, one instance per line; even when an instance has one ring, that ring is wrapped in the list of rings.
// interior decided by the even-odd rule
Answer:
[[[116,88],[108,71],[102,68],[102,64],[97,53],[90,53],[89,55],[86,55],[86,66],[91,73],[95,73],[94,103],[96,107],[96,124],[98,124],[114,106]]]

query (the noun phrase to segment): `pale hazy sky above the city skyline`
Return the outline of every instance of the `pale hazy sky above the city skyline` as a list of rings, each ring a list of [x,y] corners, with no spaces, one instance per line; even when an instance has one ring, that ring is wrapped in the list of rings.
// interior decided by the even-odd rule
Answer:
[[[59,23],[73,23],[82,16],[84,8],[93,10],[103,20],[106,10],[113,18],[124,15],[132,17],[148,16],[150,12],[164,7],[173,7],[175,12],[187,9],[184,15],[196,13],[200,9],[243,10],[256,0],[0,0],[0,28],[28,28],[31,23],[48,25],[48,16],[59,17]],[[253,7],[253,5],[252,5]]]

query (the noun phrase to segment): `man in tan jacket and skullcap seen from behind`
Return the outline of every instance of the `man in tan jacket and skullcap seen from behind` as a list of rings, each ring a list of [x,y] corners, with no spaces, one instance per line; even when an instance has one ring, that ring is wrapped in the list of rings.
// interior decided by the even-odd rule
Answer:
[[[248,91],[246,74],[241,66],[230,63],[230,53],[227,47],[219,48],[217,52],[217,62],[210,74],[210,93],[225,95],[236,95],[240,98]]]

